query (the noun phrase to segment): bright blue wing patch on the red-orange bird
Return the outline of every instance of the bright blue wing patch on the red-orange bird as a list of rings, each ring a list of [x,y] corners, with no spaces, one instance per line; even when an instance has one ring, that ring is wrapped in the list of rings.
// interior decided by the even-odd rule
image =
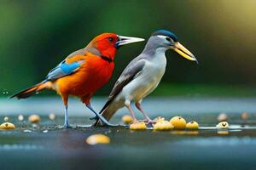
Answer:
[[[53,70],[49,71],[46,79],[49,81],[54,81],[58,78],[66,77],[67,75],[73,74],[74,72],[79,70],[79,67],[80,65],[82,65],[82,63],[84,63],[84,60],[79,60],[71,64],[67,64],[64,60]]]

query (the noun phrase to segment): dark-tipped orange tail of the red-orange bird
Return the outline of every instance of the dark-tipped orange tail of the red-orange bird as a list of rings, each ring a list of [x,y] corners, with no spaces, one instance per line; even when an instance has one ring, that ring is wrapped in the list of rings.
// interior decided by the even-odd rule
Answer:
[[[36,85],[33,85],[30,88],[26,88],[26,89],[18,92],[17,94],[12,95],[10,98],[17,98],[17,99],[29,98],[33,94],[37,94],[38,92],[41,92],[42,90],[44,90],[47,87],[46,82],[47,81],[43,81]]]

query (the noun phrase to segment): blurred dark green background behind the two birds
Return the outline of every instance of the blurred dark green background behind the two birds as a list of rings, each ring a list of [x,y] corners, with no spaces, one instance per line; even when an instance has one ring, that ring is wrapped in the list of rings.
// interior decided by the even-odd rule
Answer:
[[[1,96],[42,81],[102,32],[148,38],[163,28],[200,65],[168,51],[166,75],[153,95],[256,96],[255,8],[254,0],[1,1]],[[119,49],[113,77],[97,95],[109,94],[145,43]]]

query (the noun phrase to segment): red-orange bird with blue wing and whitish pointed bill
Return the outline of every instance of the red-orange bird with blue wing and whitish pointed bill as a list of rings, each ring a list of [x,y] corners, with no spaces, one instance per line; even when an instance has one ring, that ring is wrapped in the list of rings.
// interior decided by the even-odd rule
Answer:
[[[44,81],[14,94],[10,98],[25,99],[38,94],[44,89],[55,90],[61,95],[65,106],[63,127],[72,127],[68,123],[68,97],[77,96],[90,111],[102,120],[111,124],[90,105],[90,99],[96,90],[102,88],[112,77],[113,59],[119,47],[132,42],[142,42],[143,38],[119,36],[115,33],[102,33],[93,38],[85,48],[67,55],[59,65],[49,71]]]

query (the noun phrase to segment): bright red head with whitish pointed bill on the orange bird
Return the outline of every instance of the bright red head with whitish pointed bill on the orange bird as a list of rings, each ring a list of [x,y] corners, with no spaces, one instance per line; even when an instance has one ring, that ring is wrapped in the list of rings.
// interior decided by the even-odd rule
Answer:
[[[123,37],[114,33],[103,33],[95,37],[90,45],[96,48],[102,55],[114,58],[117,49],[125,44],[132,42],[141,42],[144,39],[137,37]]]

